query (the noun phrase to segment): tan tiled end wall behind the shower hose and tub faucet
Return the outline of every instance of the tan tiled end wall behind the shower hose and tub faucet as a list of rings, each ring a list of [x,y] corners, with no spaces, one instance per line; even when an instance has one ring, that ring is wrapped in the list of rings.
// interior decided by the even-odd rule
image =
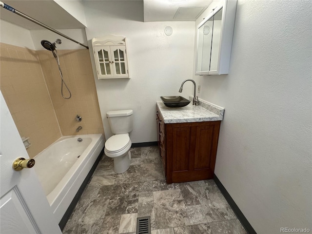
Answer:
[[[89,51],[58,50],[63,78],[72,93],[70,99],[61,96],[61,78],[52,53],[50,51],[37,53],[62,135],[104,134]],[[63,94],[69,97],[65,86]],[[82,117],[81,122],[75,121],[76,115]],[[82,130],[76,133],[78,126],[82,126]]]

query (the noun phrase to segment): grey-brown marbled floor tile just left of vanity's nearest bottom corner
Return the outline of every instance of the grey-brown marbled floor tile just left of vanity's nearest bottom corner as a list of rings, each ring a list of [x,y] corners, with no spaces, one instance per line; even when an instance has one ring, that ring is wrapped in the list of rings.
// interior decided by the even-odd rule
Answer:
[[[162,165],[159,163],[141,164],[140,181],[164,180]]]

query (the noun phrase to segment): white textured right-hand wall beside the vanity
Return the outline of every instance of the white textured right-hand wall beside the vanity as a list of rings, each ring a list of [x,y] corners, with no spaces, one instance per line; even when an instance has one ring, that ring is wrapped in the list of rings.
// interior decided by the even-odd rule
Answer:
[[[311,1],[238,0],[229,75],[195,76],[225,107],[215,174],[258,234],[312,230],[311,14]]]

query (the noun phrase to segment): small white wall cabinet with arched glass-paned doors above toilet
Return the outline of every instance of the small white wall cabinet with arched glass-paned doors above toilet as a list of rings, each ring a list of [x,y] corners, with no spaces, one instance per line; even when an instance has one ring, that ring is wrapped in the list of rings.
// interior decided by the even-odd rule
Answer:
[[[98,79],[130,78],[126,38],[108,35],[92,39]]]

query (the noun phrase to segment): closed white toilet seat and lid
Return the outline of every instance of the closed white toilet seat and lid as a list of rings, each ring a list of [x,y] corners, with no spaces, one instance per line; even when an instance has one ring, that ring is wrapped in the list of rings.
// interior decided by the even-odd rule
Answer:
[[[131,147],[129,134],[117,134],[105,142],[105,154],[110,157],[117,157],[127,152]],[[125,151],[125,152],[123,152]]]

